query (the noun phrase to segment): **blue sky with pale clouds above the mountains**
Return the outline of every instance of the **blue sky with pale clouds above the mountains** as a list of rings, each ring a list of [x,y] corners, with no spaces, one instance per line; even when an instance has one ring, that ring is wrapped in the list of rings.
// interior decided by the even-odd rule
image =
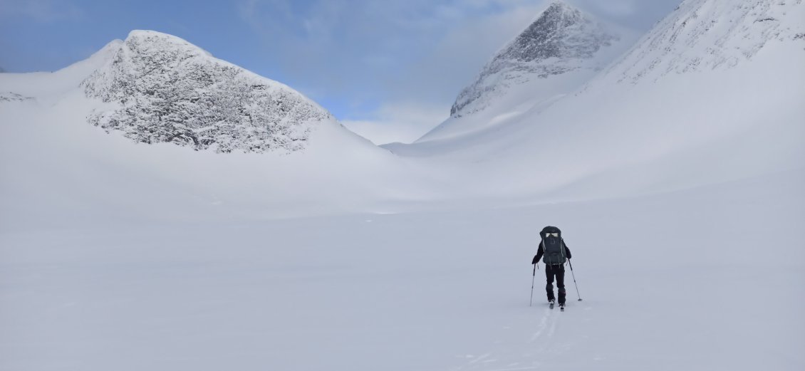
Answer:
[[[375,142],[408,142],[548,2],[0,0],[0,68],[53,71],[131,30],[161,31],[290,85]],[[566,2],[642,33],[680,0]]]

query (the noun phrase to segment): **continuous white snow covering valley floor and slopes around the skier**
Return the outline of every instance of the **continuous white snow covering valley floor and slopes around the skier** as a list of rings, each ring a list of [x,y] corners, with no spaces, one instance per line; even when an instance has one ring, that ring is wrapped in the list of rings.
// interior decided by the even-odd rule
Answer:
[[[805,369],[802,19],[687,0],[385,148],[153,31],[0,73],[0,371]]]

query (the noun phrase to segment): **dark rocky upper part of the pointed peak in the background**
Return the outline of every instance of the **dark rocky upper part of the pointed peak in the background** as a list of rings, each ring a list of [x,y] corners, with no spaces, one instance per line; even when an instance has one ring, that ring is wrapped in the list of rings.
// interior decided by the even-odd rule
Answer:
[[[610,60],[594,57],[620,39],[621,35],[580,10],[553,2],[459,93],[450,114],[462,117],[486,109],[516,85],[579,69],[603,68]]]

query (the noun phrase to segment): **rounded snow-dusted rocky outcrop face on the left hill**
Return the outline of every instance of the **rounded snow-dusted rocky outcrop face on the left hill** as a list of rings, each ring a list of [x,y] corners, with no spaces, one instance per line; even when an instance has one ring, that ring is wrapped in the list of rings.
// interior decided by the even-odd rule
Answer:
[[[90,114],[93,125],[196,150],[302,150],[316,124],[332,120],[286,85],[155,31],[132,31],[81,87],[115,104]]]

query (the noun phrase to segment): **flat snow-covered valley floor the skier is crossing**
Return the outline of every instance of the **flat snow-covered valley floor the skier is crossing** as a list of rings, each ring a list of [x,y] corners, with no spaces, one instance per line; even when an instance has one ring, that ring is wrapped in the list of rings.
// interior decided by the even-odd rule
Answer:
[[[805,367],[805,177],[528,208],[0,234],[3,370]],[[568,310],[530,258],[558,225]],[[542,269],[542,267],[541,267]]]

